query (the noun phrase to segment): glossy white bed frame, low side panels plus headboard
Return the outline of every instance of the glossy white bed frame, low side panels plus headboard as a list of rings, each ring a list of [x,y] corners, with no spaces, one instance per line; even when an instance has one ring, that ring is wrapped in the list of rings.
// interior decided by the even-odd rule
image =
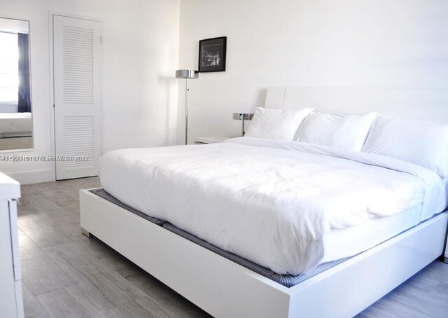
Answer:
[[[406,104],[410,109],[401,113]],[[267,107],[309,105],[318,111],[377,109],[391,116],[448,123],[448,97],[440,91],[267,90]],[[80,191],[80,226],[85,235],[98,237],[214,317],[352,317],[441,256],[447,222],[448,212],[444,212],[286,288],[87,190]]]

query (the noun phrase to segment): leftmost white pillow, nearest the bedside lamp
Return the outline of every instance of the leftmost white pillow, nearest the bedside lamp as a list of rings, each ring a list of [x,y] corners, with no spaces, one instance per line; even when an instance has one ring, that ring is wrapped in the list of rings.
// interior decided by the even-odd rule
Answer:
[[[313,109],[269,109],[257,107],[245,136],[293,140],[297,128]]]

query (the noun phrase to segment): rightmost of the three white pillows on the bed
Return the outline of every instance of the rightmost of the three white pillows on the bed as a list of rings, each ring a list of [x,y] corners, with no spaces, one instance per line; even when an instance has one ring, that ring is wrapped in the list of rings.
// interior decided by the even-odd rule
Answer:
[[[421,165],[448,177],[448,125],[378,116],[363,151]]]

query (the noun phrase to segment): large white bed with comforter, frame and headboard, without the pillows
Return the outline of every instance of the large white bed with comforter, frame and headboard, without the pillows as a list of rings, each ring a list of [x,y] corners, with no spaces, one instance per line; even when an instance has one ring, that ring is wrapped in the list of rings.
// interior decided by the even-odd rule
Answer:
[[[397,111],[411,98],[428,117],[421,106],[428,96],[445,98],[436,93],[273,88],[266,106],[314,103],[324,111],[328,99],[353,105],[362,96],[387,100]],[[104,190],[121,203],[81,191],[84,233],[216,317],[353,316],[444,249],[447,180],[379,155],[244,137],[116,151],[102,158],[100,175]],[[314,199],[296,200],[297,193]],[[316,200],[320,193],[338,193],[338,200]],[[299,210],[300,217],[291,213]],[[201,241],[279,275],[323,270],[282,284]]]

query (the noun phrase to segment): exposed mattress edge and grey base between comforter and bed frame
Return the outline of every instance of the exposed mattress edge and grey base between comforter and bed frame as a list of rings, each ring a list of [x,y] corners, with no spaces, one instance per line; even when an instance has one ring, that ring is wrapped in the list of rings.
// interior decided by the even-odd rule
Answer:
[[[334,267],[335,265],[343,263],[356,254],[359,254],[360,251],[365,251],[370,247],[374,247],[377,244],[380,244],[381,242],[394,237],[395,235],[405,232],[405,230],[408,230],[409,228],[412,228],[419,223],[419,209],[414,208],[388,218],[372,219],[364,223],[363,226],[332,231],[327,237],[329,251],[336,251],[341,247],[345,247],[345,251],[343,253],[349,256],[339,258],[335,261],[324,260],[323,263],[316,266],[316,268],[308,270],[301,275],[280,275],[276,272],[273,272],[272,270],[269,270],[269,268],[265,268],[263,266],[255,264],[245,258],[242,258],[241,256],[232,254],[228,251],[214,246],[213,244],[210,244],[209,242],[201,240],[199,237],[181,230],[180,228],[173,226],[167,221],[163,221],[153,216],[148,216],[147,214],[139,212],[136,209],[125,205],[123,202],[120,202],[120,200],[114,198],[112,195],[104,191],[103,188],[90,190],[90,192],[98,195],[100,198],[112,202],[115,205],[118,205],[119,207],[123,207],[123,209],[127,209],[127,211],[132,212],[137,216],[155,223],[158,226],[162,226],[163,228],[185,238],[186,240],[194,242],[195,244],[198,244],[205,249],[209,249],[209,251],[213,251],[220,256],[228,258],[230,261],[233,261],[243,266],[244,268],[248,268],[249,270],[252,270],[253,272],[267,277],[274,282],[282,284],[283,286],[286,286],[288,288],[304,282],[305,280],[314,277],[319,273]],[[360,240],[361,237],[362,240]],[[328,258],[332,257],[333,256],[331,254],[328,254]]]

